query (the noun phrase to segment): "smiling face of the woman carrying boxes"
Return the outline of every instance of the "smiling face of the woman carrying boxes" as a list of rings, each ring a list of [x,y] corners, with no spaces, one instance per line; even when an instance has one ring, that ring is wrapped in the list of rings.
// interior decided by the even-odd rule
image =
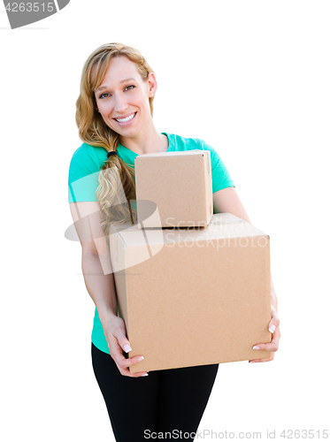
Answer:
[[[137,65],[128,57],[113,57],[95,91],[97,110],[121,139],[142,135],[152,125],[149,98],[156,90],[152,72],[148,80],[143,80]]]

